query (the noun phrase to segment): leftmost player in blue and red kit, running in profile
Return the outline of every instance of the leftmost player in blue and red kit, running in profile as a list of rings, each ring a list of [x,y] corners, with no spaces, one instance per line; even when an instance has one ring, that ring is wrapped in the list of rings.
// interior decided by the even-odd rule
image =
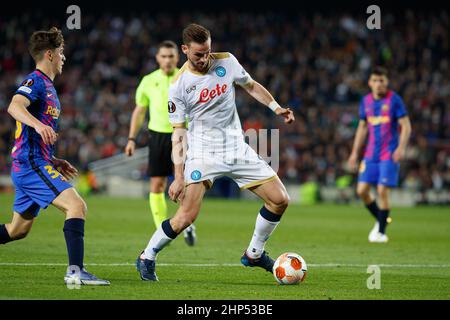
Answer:
[[[83,265],[86,204],[67,180],[78,173],[66,160],[54,157],[61,112],[53,80],[61,74],[64,38],[60,30],[32,34],[29,51],[36,70],[26,76],[8,107],[16,120],[11,177],[15,185],[11,223],[0,224],[0,244],[25,238],[41,208],[50,204],[66,216],[64,238],[69,267],[64,281],[70,284],[109,285],[88,273]]]

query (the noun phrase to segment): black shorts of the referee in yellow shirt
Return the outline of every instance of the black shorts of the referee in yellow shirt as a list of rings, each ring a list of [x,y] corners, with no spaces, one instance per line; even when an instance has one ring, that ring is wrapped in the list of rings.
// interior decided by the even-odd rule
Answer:
[[[172,134],[149,130],[148,174],[167,177],[173,174]]]

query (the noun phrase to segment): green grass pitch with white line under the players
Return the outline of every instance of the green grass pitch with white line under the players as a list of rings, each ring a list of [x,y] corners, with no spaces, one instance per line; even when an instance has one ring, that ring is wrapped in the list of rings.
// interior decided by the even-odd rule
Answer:
[[[0,222],[11,218],[0,195]],[[291,205],[266,250],[302,255],[300,285],[277,285],[261,269],[239,265],[261,203],[207,199],[196,222],[198,244],[180,236],[158,257],[158,283],[139,279],[134,261],[154,227],[147,201],[89,197],[85,262],[110,287],[68,289],[63,282],[64,216],[42,211],[29,236],[0,246],[0,299],[450,299],[450,210],[394,208],[390,242],[369,244],[372,218],[362,206]],[[169,204],[170,212],[176,209]],[[381,289],[367,288],[379,265]]]

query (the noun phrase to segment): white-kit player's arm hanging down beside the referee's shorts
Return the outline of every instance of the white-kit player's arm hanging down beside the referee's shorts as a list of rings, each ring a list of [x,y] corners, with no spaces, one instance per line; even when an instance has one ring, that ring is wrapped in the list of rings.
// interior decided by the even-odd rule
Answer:
[[[172,201],[182,201],[184,197],[184,162],[187,151],[187,134],[183,125],[174,126],[172,133],[172,161],[174,164],[174,180],[169,187]]]

